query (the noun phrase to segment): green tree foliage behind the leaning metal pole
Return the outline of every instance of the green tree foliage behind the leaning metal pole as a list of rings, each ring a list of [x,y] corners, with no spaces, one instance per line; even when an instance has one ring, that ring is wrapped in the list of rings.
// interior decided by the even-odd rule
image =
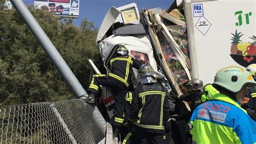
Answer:
[[[84,88],[87,57],[98,63],[97,29],[87,19],[80,27],[40,9],[30,9]],[[0,106],[75,98],[68,85],[15,10],[0,10]]]

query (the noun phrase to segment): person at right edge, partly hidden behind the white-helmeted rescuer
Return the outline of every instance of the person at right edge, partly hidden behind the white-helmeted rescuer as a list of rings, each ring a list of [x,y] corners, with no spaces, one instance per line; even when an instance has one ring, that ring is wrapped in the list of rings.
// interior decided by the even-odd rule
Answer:
[[[251,64],[247,66],[246,70],[250,72],[254,78],[256,73],[256,64]],[[246,109],[247,113],[251,118],[256,121],[256,90],[255,87],[248,87],[249,94],[244,98],[244,105],[241,107]]]

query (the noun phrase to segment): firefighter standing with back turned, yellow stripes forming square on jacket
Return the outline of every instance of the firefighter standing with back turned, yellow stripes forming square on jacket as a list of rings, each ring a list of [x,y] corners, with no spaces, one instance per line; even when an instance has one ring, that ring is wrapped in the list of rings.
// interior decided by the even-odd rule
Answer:
[[[164,143],[165,124],[170,118],[166,88],[156,83],[149,64],[140,67],[139,72],[142,79],[134,90],[128,121],[131,132],[123,143]]]

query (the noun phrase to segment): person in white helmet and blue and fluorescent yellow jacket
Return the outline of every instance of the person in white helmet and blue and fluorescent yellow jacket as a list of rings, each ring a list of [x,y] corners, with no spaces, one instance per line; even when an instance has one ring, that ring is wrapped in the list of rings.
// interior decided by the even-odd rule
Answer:
[[[251,74],[239,66],[221,68],[212,84],[220,93],[199,105],[191,116],[196,143],[255,143],[256,123],[239,101],[247,86],[255,85]]]

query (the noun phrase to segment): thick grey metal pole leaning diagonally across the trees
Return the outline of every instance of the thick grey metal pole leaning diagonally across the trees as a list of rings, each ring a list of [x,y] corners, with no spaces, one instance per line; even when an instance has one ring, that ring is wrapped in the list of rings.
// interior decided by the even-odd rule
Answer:
[[[41,26],[37,23],[36,19],[32,16],[29,9],[26,8],[26,5],[23,3],[23,1],[11,0],[11,3],[14,5],[19,15],[21,15],[30,31],[37,38],[46,54],[48,54],[52,63],[57,67],[60,75],[64,78],[66,83],[68,83],[73,93],[75,93],[75,96],[82,99],[86,98],[87,93],[85,92],[84,88],[79,83],[73,72],[70,70],[65,60],[62,58],[62,56],[60,56],[56,47],[51,43],[51,40],[45,34]]]

